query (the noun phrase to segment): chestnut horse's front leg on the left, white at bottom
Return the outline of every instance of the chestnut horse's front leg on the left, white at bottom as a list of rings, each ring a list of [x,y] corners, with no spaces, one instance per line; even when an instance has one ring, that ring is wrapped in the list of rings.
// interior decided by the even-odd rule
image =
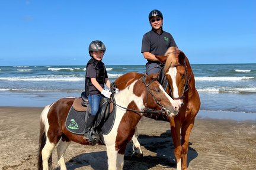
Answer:
[[[181,148],[181,140],[180,140],[180,129],[181,129],[180,123],[178,123],[178,121],[174,122],[174,119],[172,119],[171,135],[172,135],[172,140],[174,142],[174,155],[177,161],[177,170],[181,170],[182,148]]]

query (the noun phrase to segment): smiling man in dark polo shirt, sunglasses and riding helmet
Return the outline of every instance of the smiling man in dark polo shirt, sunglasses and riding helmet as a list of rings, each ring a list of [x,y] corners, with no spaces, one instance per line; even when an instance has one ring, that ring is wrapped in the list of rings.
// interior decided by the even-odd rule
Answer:
[[[164,67],[155,55],[164,55],[169,47],[177,47],[172,35],[162,29],[163,21],[162,12],[157,9],[149,13],[152,30],[143,35],[141,51],[144,58],[148,60],[146,74],[158,73]]]

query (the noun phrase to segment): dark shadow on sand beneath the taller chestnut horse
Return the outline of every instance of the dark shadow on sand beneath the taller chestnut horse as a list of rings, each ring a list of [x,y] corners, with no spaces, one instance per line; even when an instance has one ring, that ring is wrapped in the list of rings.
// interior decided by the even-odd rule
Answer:
[[[124,155],[124,169],[140,167],[139,169],[149,169],[161,165],[162,168],[176,168],[176,158],[174,155],[174,143],[171,138],[171,130],[162,133],[160,136],[139,135],[140,145],[146,149],[143,150],[143,157],[136,158],[130,156],[133,153],[132,144],[127,145]],[[195,149],[191,148],[189,142],[187,165],[198,156]],[[126,164],[129,162],[129,164]]]

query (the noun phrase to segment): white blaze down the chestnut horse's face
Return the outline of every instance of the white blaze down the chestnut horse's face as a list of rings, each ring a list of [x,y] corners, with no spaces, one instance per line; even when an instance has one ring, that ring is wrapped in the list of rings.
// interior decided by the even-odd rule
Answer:
[[[176,84],[177,68],[176,67],[170,67],[167,74],[169,74],[171,76],[171,79],[172,79],[172,88],[173,88],[172,95],[173,95],[173,97],[174,98],[175,97],[176,98],[180,97],[179,94],[178,94],[178,86]],[[179,107],[181,107],[181,103],[183,103],[182,100],[175,99],[174,101],[178,104]]]

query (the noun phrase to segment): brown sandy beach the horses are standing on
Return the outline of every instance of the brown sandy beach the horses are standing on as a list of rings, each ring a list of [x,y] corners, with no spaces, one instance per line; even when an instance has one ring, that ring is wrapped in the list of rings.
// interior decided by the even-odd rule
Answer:
[[[0,107],[0,168],[36,169],[41,107]],[[241,113],[242,114],[242,113]],[[124,169],[175,169],[174,146],[168,122],[143,117],[138,125],[143,158],[129,144]],[[256,169],[256,123],[196,119],[190,136],[188,169]],[[71,143],[68,169],[107,169],[105,146]],[[53,152],[53,168],[57,166]]]

